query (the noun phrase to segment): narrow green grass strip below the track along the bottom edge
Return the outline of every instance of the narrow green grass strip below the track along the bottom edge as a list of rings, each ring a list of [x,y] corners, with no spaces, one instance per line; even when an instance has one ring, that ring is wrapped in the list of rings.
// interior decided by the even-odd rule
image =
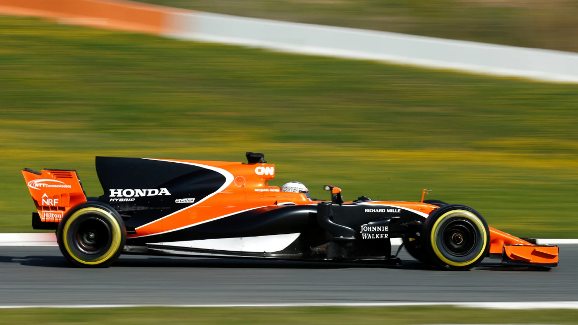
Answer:
[[[577,324],[572,309],[98,308],[2,309],[0,324]]]

